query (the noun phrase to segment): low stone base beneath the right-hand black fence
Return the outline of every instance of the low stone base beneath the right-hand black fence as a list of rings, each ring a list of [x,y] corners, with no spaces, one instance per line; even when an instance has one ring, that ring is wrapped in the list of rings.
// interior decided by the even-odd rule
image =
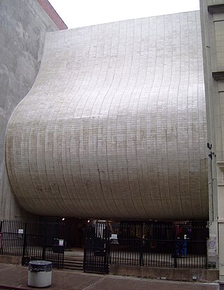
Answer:
[[[110,266],[110,274],[188,282],[217,282],[218,270]]]

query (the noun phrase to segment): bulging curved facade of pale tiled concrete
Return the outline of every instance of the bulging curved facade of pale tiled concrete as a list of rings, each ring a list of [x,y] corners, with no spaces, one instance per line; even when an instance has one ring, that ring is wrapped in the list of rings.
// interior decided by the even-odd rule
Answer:
[[[6,133],[37,215],[207,219],[200,13],[49,33]]]

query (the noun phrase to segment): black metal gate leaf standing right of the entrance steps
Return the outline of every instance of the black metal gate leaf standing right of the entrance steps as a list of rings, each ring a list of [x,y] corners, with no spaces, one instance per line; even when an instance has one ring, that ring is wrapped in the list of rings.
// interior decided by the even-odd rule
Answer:
[[[109,231],[106,224],[93,224],[86,229],[84,271],[109,273]]]

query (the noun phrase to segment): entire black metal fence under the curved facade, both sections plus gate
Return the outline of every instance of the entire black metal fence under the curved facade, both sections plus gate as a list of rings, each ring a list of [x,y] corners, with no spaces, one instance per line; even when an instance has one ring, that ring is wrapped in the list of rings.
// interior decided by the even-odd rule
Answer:
[[[3,221],[0,254],[52,261],[63,268],[63,222]],[[85,272],[109,273],[109,265],[166,268],[207,268],[206,224],[165,222],[118,224],[105,222],[86,228]]]

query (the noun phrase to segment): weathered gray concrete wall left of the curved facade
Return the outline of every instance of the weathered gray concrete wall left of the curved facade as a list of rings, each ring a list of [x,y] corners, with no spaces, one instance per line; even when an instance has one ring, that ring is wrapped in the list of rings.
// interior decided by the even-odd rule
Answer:
[[[27,214],[15,201],[8,182],[4,161],[6,126],[34,84],[45,32],[58,28],[37,0],[0,0],[0,27],[0,219],[13,219]]]

